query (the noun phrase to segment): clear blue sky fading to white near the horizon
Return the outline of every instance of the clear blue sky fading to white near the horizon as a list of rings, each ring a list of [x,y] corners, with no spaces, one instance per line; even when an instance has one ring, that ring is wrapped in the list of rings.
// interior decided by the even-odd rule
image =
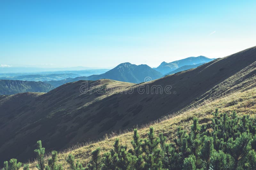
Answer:
[[[256,1],[0,1],[0,67],[157,67],[256,46]]]

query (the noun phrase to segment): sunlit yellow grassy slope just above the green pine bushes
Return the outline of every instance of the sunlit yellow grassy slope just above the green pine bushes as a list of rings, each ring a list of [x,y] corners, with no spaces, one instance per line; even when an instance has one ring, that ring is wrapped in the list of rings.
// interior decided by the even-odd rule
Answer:
[[[193,117],[199,118],[200,124],[207,124],[211,121],[212,112],[215,108],[219,108],[220,112],[232,113],[235,110],[238,115],[250,114],[251,116],[255,116],[256,114],[256,88],[249,89],[244,92],[236,92],[231,95],[222,97],[216,100],[207,100],[204,101],[200,106],[191,108],[182,113],[176,113],[175,116],[172,117],[163,117],[158,122],[154,122],[151,124],[144,125],[140,128],[139,134],[141,137],[146,137],[148,133],[149,125],[153,125],[155,128],[156,135],[163,132],[168,140],[172,141],[173,136],[175,135],[175,131],[178,126],[184,127],[184,129],[189,130],[190,125],[192,124]],[[132,140],[133,132],[130,130],[126,133],[120,135],[108,135],[108,138],[91,143],[89,145],[80,146],[77,145],[75,147],[70,148],[66,151],[60,152],[59,160],[64,165],[64,169],[67,169],[68,166],[66,164],[65,158],[69,153],[75,155],[76,159],[81,161],[83,164],[86,164],[89,161],[91,152],[100,147],[102,153],[109,151],[116,138],[120,139],[120,142],[123,145],[127,145],[128,148],[131,148],[130,141]],[[35,162],[31,164],[32,167],[35,166]]]

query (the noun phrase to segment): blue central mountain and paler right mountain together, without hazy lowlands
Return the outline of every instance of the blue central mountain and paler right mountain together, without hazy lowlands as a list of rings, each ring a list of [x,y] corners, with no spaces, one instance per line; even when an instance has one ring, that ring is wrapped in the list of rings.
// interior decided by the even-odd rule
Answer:
[[[150,80],[156,80],[163,76],[163,74],[169,72],[177,73],[186,69],[195,68],[206,62],[212,61],[204,56],[188,57],[182,60],[173,61],[171,63],[162,62],[157,68],[151,68],[148,65],[141,64],[135,65],[129,62],[121,63],[115,68],[107,71],[103,74],[91,75],[91,76],[80,76],[76,78],[66,78],[59,81],[48,81],[47,83],[52,84],[54,87],[59,87],[67,82],[73,82],[78,80],[100,80],[100,79],[112,79],[117,81],[125,81],[131,83],[141,83]],[[165,74],[165,75],[167,75]]]

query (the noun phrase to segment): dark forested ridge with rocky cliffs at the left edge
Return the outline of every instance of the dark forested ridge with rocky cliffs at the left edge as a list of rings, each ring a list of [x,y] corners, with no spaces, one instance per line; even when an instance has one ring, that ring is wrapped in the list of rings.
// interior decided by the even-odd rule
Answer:
[[[0,95],[12,95],[24,92],[48,92],[54,89],[51,84],[42,81],[0,80]]]

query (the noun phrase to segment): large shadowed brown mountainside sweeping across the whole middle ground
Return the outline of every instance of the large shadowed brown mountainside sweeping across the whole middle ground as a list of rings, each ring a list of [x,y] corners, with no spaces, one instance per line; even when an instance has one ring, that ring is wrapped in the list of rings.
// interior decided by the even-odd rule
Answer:
[[[37,140],[42,140],[46,151],[61,150],[254,87],[256,46],[141,84],[75,81],[45,94],[4,96],[0,98],[0,136],[4,137],[0,162],[34,156]]]

